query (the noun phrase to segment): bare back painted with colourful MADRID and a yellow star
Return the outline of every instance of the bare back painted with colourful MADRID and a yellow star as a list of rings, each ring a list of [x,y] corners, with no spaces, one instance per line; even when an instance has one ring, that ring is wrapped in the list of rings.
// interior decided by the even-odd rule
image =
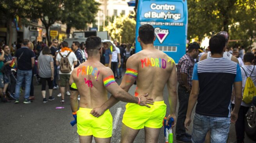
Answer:
[[[149,97],[155,101],[162,101],[164,86],[173,68],[173,59],[157,49],[144,49],[133,54],[128,62],[138,67],[135,96],[149,93]]]

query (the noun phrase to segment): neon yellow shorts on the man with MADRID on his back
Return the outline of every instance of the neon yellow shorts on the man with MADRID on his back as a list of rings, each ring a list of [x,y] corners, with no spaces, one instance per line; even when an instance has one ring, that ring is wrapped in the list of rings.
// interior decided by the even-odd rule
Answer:
[[[135,103],[126,104],[122,122],[132,129],[161,128],[166,114],[164,101],[155,101],[154,105],[149,106],[151,108]]]

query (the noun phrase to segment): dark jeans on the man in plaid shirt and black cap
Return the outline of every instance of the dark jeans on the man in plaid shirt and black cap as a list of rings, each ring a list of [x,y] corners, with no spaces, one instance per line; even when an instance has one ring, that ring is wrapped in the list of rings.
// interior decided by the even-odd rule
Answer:
[[[189,92],[187,89],[181,85],[178,86],[178,99],[179,99],[179,111],[176,123],[176,137],[185,136],[186,130],[184,127],[184,122],[186,119],[187,109],[188,109],[188,99]]]

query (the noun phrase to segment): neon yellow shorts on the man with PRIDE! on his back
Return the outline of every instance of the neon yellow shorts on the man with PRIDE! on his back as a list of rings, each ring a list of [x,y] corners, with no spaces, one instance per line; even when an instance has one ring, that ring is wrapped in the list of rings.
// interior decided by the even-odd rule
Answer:
[[[80,136],[91,136],[96,138],[110,138],[112,136],[112,115],[109,110],[100,117],[90,114],[92,109],[79,108],[77,115],[77,133]]]

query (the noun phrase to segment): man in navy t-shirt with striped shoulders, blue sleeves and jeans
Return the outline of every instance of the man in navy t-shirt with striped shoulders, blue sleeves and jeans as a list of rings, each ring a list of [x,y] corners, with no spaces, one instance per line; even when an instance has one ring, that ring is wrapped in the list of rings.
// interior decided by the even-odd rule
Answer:
[[[235,123],[242,101],[242,76],[240,66],[223,58],[225,37],[215,35],[209,41],[211,58],[196,63],[192,76],[192,90],[188,101],[186,129],[194,115],[192,142],[203,143],[206,133],[211,131],[211,142],[226,143],[230,122]],[[233,85],[235,108],[230,111]],[[230,121],[231,118],[231,121]]]

